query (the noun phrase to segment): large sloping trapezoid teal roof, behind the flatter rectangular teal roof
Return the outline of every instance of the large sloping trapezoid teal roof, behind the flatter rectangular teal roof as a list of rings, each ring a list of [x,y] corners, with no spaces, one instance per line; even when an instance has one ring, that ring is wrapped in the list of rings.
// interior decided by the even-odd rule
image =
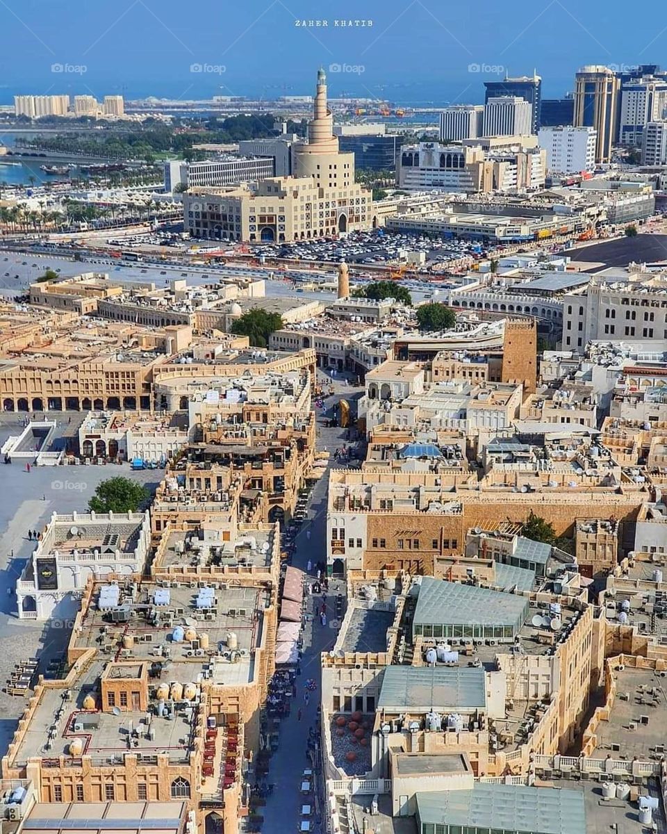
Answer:
[[[524,596],[424,576],[413,628],[424,623],[518,626],[523,625],[528,607],[528,599]]]

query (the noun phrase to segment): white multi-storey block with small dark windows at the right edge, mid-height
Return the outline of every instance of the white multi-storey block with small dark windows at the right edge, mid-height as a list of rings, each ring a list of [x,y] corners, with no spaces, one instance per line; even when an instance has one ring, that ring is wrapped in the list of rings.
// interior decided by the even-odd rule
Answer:
[[[563,298],[563,349],[582,354],[591,341],[656,344],[667,339],[667,279],[629,274],[602,283],[591,279]]]

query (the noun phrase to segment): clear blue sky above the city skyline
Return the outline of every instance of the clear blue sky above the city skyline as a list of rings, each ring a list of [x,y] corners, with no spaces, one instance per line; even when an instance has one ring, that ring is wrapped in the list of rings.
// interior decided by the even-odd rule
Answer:
[[[328,25],[296,23],[318,19]],[[306,94],[322,64],[333,67],[333,95],[468,103],[505,69],[536,68],[543,94],[558,97],[583,63],[667,66],[656,0],[636,15],[618,0],[0,0],[0,32],[4,102],[14,93]]]

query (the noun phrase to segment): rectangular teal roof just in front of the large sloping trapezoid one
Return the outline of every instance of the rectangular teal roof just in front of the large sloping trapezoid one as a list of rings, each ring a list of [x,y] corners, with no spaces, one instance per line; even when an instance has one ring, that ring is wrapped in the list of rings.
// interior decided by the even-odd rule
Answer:
[[[378,707],[389,712],[481,710],[486,706],[484,669],[467,666],[388,666]]]

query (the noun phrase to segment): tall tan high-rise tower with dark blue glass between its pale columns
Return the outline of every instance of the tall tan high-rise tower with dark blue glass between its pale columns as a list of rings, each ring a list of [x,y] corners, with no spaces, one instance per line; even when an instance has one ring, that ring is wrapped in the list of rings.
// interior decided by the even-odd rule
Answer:
[[[574,127],[595,128],[595,162],[611,161],[618,115],[619,78],[609,67],[582,67],[574,77]]]

